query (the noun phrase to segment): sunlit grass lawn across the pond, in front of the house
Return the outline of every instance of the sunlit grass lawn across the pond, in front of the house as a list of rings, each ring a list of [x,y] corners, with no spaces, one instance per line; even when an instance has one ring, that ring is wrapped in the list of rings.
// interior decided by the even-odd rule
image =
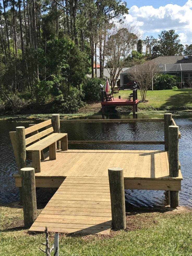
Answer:
[[[132,91],[119,91],[123,99],[127,99]],[[141,99],[140,91],[137,91]],[[116,97],[116,96],[115,96]],[[192,89],[147,91],[148,102],[139,103],[141,110],[186,110],[192,109]]]

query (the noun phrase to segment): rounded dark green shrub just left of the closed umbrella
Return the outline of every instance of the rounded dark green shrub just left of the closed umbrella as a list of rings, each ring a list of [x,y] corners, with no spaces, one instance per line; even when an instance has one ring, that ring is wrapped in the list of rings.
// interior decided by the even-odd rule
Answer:
[[[101,78],[91,78],[87,79],[82,85],[83,93],[85,94],[85,100],[94,101],[100,100],[101,97],[101,86],[105,81]]]

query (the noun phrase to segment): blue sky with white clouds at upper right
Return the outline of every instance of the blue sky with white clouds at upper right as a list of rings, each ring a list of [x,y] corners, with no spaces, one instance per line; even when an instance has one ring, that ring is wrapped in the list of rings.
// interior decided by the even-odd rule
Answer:
[[[142,39],[174,29],[183,45],[192,44],[192,0],[126,0],[126,21],[136,26]]]

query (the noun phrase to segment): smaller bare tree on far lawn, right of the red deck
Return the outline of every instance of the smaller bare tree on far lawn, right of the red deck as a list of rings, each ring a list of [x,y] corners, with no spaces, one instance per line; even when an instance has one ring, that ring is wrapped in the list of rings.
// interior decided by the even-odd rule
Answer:
[[[153,61],[147,61],[132,67],[129,72],[129,79],[139,85],[142,102],[145,102],[147,90],[152,84],[154,74],[158,72],[158,66]]]

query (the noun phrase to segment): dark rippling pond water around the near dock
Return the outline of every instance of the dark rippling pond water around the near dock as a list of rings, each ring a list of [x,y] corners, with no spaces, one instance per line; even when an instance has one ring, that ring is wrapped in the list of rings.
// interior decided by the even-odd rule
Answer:
[[[137,118],[157,118],[159,115],[138,115]],[[163,116],[161,116],[163,118]],[[174,116],[173,116],[174,117]],[[88,116],[87,119],[100,119],[101,115]],[[106,118],[106,117],[105,117]],[[107,118],[133,118],[131,115],[117,114]],[[80,119],[85,119],[81,117]],[[179,140],[179,160],[183,175],[180,204],[192,206],[192,118],[174,117],[182,138]],[[15,188],[13,174],[17,171],[9,132],[16,126],[28,127],[29,123],[41,120],[17,118],[2,120],[0,148],[0,193],[1,203],[19,200],[19,189]],[[164,140],[163,123],[79,123],[61,124],[61,132],[68,133],[68,140]],[[141,149],[163,150],[164,145],[69,145],[69,149]],[[52,192],[54,193],[54,192]],[[37,200],[47,194],[47,189],[37,192]],[[52,195],[52,194],[51,194]],[[50,195],[50,197],[51,197]],[[126,190],[126,201],[134,206],[164,206],[167,198],[164,191]],[[49,198],[48,198],[49,199]],[[45,202],[46,203],[46,200]]]

